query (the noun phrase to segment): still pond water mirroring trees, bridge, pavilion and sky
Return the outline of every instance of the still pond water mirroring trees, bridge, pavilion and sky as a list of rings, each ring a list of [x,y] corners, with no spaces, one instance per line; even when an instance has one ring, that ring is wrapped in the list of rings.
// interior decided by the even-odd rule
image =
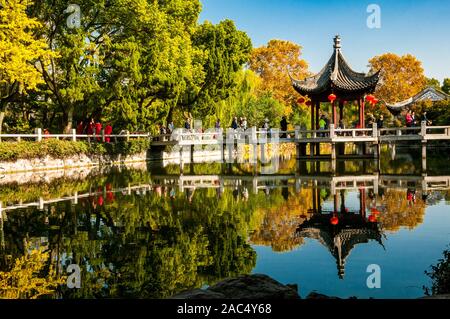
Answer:
[[[334,173],[293,159],[270,175],[149,163],[1,184],[0,271],[41,248],[40,276],[82,271],[81,288],[60,285],[56,298],[167,298],[247,273],[298,284],[302,297],[420,297],[450,244],[450,166],[438,153],[423,170],[418,155],[337,162]],[[366,283],[371,264],[379,289]]]

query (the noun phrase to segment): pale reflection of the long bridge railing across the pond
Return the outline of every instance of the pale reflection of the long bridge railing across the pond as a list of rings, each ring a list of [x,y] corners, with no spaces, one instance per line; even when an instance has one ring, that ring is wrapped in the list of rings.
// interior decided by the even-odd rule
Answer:
[[[135,186],[127,186],[111,190],[89,192],[85,194],[74,193],[72,196],[64,196],[56,199],[44,200],[40,198],[38,201],[30,203],[22,203],[14,205],[4,205],[0,202],[0,218],[1,213],[36,207],[44,209],[44,205],[58,202],[71,201],[77,204],[79,199],[89,198],[92,196],[100,196],[107,193],[122,193],[131,195],[132,192],[152,191],[154,187],[178,187],[180,192],[185,189],[201,189],[201,188],[219,188],[237,187],[243,183],[251,185],[253,193],[257,194],[260,190],[272,190],[277,188],[295,187],[298,192],[302,187],[311,187],[313,189],[328,189],[331,195],[337,196],[343,191],[372,191],[378,193],[378,189],[382,188],[414,188],[423,192],[440,191],[450,189],[450,176],[413,176],[413,175],[360,175],[360,176],[309,176],[309,175],[154,175],[150,184],[141,184]],[[319,196],[318,194],[316,195]],[[320,204],[317,204],[316,210]]]

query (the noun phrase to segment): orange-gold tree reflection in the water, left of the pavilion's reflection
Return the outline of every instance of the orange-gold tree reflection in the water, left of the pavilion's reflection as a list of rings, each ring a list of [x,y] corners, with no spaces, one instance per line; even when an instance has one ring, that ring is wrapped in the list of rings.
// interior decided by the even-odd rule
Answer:
[[[250,241],[256,245],[270,245],[274,251],[289,251],[300,246],[303,238],[296,236],[296,229],[306,218],[307,205],[311,202],[311,189],[302,189],[295,197],[290,196],[288,201],[281,194],[272,195],[270,206],[259,208],[256,212],[264,217]]]

